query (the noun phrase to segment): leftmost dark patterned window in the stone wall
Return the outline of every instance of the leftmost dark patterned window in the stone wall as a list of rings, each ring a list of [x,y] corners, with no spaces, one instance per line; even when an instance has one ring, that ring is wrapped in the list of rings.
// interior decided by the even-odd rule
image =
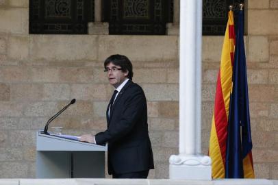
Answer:
[[[87,34],[94,0],[30,0],[29,34]]]

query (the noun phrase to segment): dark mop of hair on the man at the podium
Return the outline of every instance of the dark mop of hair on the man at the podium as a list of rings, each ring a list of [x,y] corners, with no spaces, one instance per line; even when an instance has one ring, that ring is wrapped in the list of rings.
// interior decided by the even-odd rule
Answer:
[[[112,55],[110,57],[108,57],[105,61],[104,61],[104,68],[106,68],[106,66],[108,66],[108,64],[114,64],[116,66],[121,66],[121,70],[123,72],[129,72],[127,77],[132,80],[132,77],[134,76],[134,72],[132,72],[132,64],[130,62],[130,60],[126,57],[126,56],[121,56],[121,55]]]

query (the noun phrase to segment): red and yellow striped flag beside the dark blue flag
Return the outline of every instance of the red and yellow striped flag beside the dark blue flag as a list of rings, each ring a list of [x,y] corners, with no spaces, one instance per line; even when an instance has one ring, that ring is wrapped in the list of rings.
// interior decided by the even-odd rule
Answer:
[[[212,130],[210,133],[209,155],[212,158],[212,178],[225,177],[225,156],[229,101],[232,87],[233,53],[235,51],[235,32],[233,12],[229,11],[220,69],[218,71]]]

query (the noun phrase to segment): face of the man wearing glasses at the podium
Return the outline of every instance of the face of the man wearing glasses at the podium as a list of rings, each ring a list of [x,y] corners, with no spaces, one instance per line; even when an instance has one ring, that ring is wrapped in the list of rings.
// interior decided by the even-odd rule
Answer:
[[[121,70],[121,66],[116,66],[112,62],[110,62],[106,67],[105,67],[108,75],[108,80],[109,83],[114,86],[114,88],[117,88],[120,86],[125,79],[127,79],[128,71],[123,72]]]

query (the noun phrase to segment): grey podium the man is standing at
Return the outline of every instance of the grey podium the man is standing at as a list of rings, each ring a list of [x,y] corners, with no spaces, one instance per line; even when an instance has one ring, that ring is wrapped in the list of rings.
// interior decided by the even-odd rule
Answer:
[[[107,145],[94,145],[37,132],[37,178],[103,178]]]

